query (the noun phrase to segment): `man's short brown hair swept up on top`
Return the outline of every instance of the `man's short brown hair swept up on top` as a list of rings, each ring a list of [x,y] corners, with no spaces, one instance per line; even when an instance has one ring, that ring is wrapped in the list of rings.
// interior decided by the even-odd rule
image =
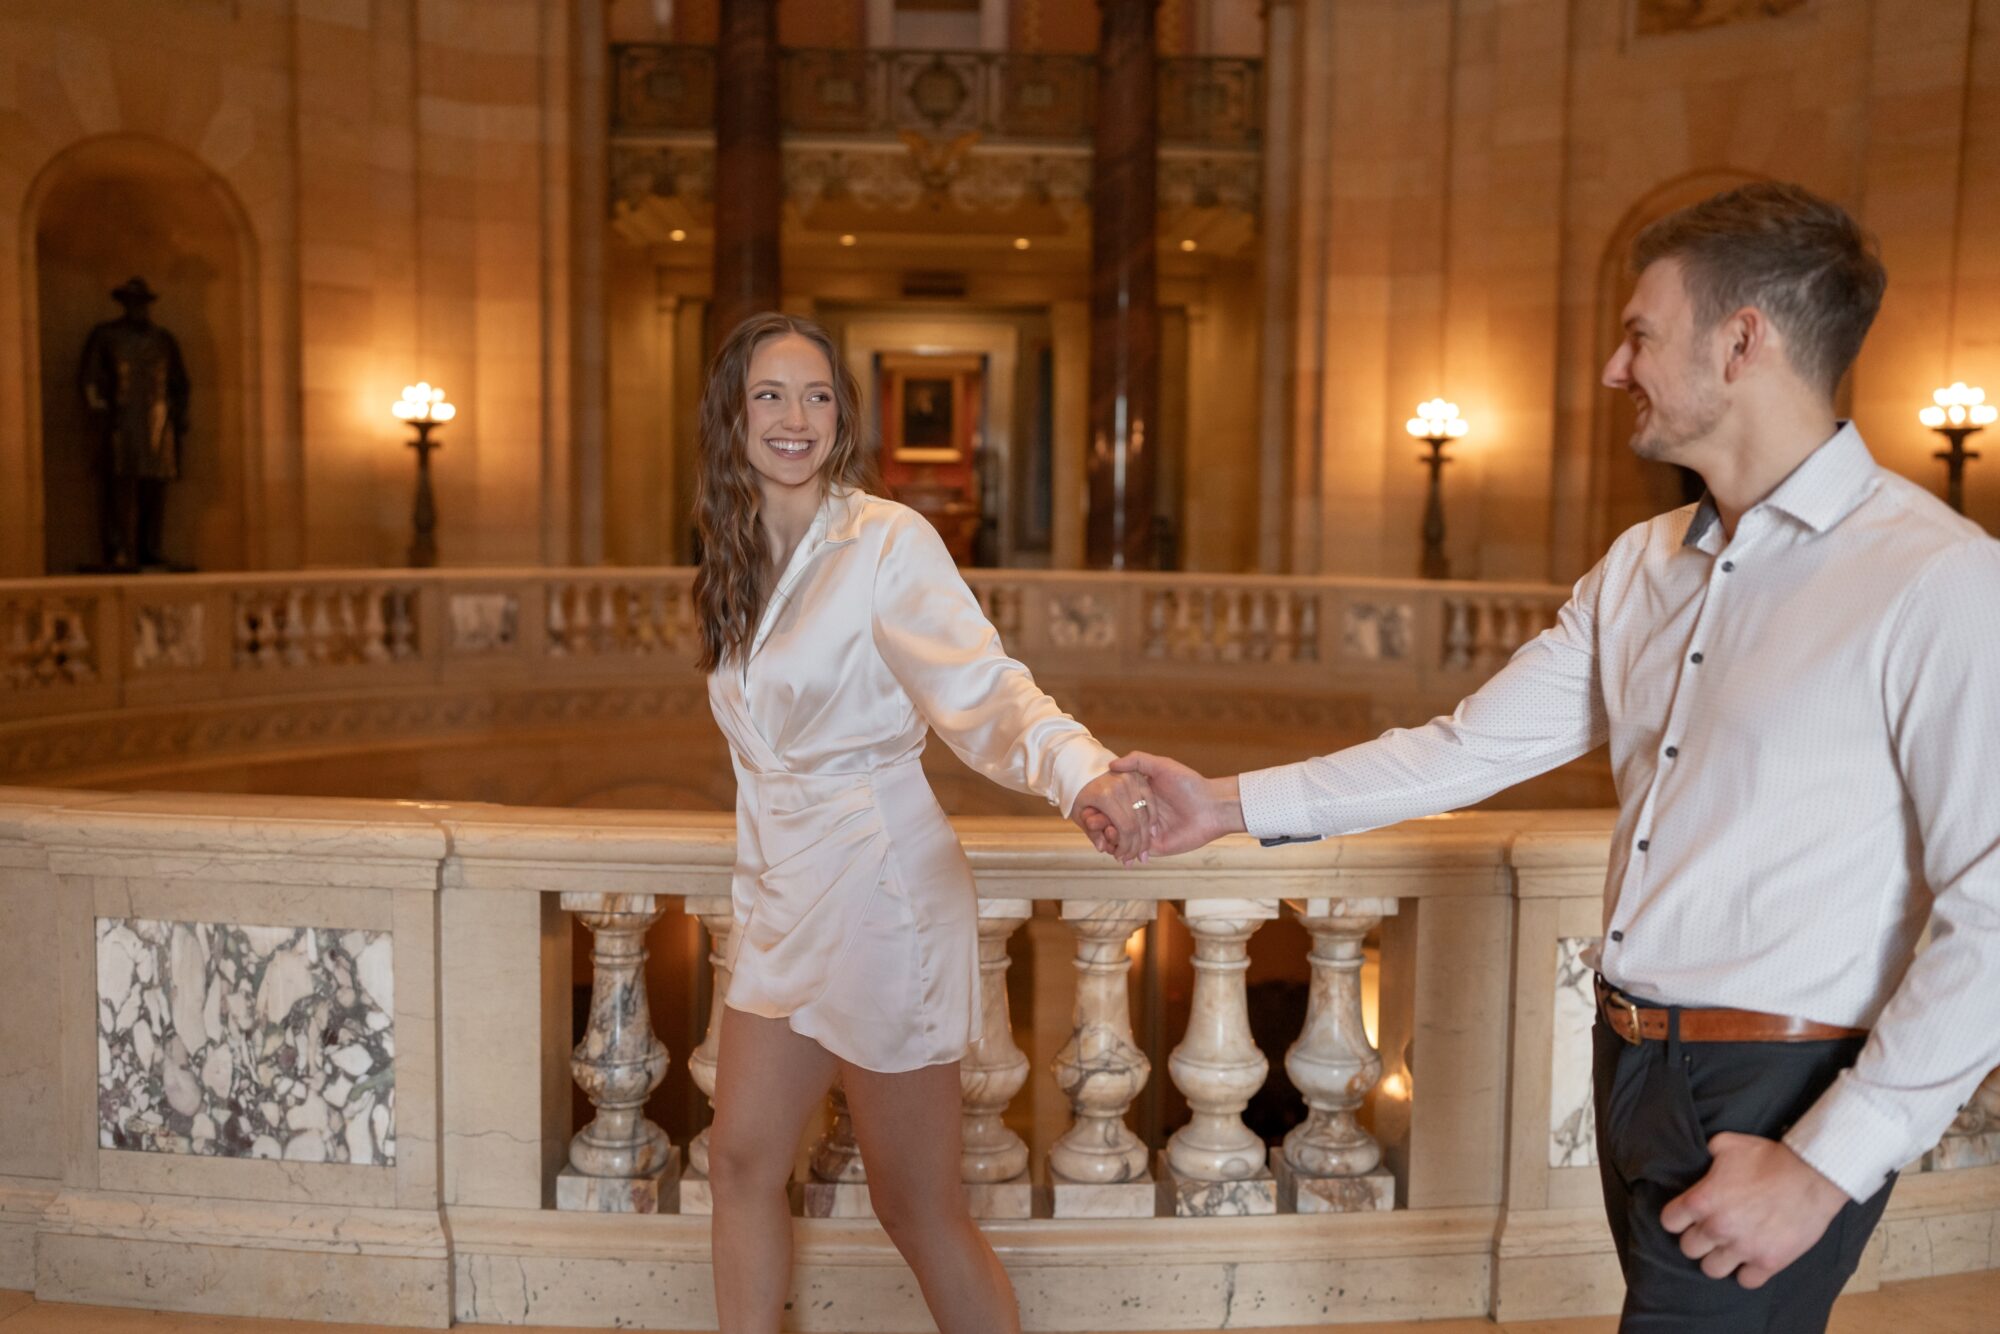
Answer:
[[[1784,334],[1792,368],[1828,398],[1860,356],[1888,274],[1840,204],[1756,182],[1672,212],[1632,242],[1632,272],[1680,260],[1696,328],[1756,306]]]

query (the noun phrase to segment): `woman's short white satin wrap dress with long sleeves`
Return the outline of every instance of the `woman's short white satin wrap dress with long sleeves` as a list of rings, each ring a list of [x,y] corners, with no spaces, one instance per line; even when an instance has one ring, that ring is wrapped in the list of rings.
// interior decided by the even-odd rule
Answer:
[[[866,1070],[964,1056],[978,902],[924,738],[1062,812],[1112,752],[1000,650],[936,530],[854,490],[820,504],[708,702],[736,766],[726,1002]]]

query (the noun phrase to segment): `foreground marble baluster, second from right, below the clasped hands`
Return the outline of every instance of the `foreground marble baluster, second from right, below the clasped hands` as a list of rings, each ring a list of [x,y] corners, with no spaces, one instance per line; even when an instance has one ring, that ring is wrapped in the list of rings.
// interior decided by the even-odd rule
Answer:
[[[1270,1074],[1270,1062],[1250,1038],[1244,992],[1250,934],[1278,916],[1278,902],[1198,898],[1188,900],[1182,916],[1194,934],[1194,1002],[1188,1034],[1168,1058],[1168,1072],[1194,1118],[1160,1154],[1174,1212],[1182,1218],[1276,1214],[1268,1152],[1244,1124],[1242,1110]]]

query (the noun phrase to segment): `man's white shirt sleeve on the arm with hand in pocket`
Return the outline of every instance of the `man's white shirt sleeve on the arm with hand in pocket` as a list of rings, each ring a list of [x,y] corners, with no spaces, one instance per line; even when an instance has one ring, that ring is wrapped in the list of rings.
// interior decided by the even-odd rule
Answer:
[[[2000,1066],[2000,542],[1944,548],[1892,624],[1882,688],[1896,768],[1922,838],[1930,944],[1854,1066],[1784,1142],[1866,1200],[1944,1134]]]

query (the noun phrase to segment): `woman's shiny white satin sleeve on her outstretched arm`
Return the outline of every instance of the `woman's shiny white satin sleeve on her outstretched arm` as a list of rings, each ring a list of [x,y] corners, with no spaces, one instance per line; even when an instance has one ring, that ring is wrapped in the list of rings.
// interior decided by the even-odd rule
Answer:
[[[900,512],[874,580],[876,652],[970,768],[1064,814],[1116,758],[1000,648],[938,532]]]

